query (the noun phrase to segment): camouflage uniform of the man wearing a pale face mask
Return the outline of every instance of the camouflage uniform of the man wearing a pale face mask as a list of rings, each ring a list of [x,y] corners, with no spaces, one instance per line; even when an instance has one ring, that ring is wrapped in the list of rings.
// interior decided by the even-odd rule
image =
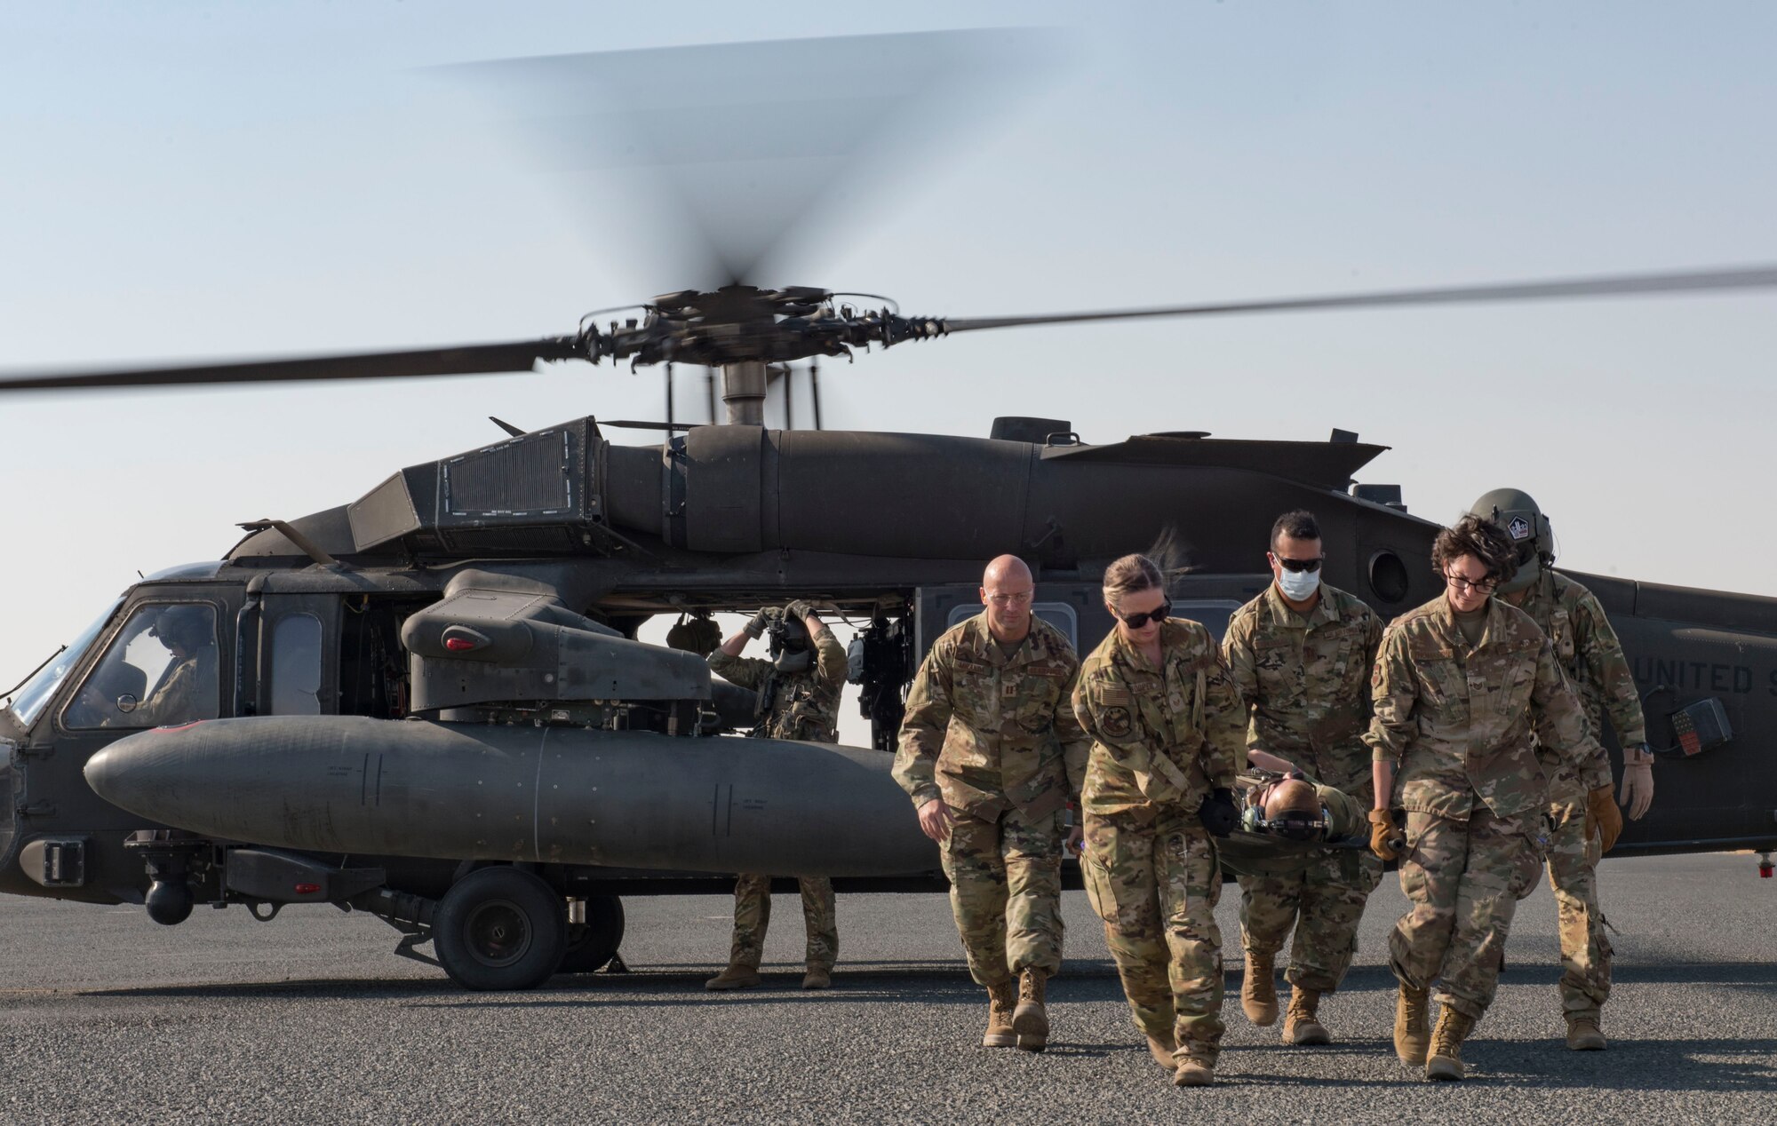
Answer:
[[[1381,643],[1383,620],[1326,584],[1306,615],[1285,606],[1276,584],[1235,611],[1223,654],[1251,710],[1247,746],[1368,803],[1363,732]],[[1358,950],[1358,922],[1383,879],[1383,861],[1368,849],[1313,849],[1303,860],[1299,872],[1239,877],[1240,941],[1269,963],[1295,927],[1285,980],[1333,993]]]

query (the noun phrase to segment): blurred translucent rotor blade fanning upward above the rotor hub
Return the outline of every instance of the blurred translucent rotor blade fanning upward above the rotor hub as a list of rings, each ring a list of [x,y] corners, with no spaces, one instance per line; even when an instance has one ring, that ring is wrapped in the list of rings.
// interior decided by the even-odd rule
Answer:
[[[631,240],[657,288],[780,284],[791,243],[851,224],[841,195],[929,170],[1052,57],[1029,28],[775,39],[435,67],[498,130],[569,174],[601,242]],[[620,202],[601,199],[617,192]],[[851,206],[851,210],[858,210]],[[620,215],[620,222],[611,217]],[[825,220],[825,222],[823,222]],[[768,272],[771,277],[768,277]]]

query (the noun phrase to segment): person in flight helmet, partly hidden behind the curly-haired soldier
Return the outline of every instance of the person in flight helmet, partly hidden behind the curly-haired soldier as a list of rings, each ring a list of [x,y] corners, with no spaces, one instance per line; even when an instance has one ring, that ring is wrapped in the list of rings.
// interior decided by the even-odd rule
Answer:
[[[1555,661],[1573,682],[1585,707],[1594,739],[1603,737],[1605,716],[1622,744],[1622,796],[1630,817],[1640,817],[1654,799],[1653,751],[1635,677],[1622,657],[1622,643],[1610,629],[1605,607],[1585,586],[1553,570],[1555,535],[1530,494],[1494,488],[1470,510],[1500,527],[1518,551],[1518,574],[1500,584],[1500,597],[1535,618]],[[1601,837],[1585,835],[1589,801],[1610,801],[1610,794],[1592,797],[1548,748],[1539,748],[1542,773],[1550,783],[1550,886],[1560,932],[1560,1000],[1567,1019],[1567,1048],[1598,1051],[1605,1046],[1599,1009],[1610,998],[1610,940],[1598,906],[1598,860],[1608,849]]]

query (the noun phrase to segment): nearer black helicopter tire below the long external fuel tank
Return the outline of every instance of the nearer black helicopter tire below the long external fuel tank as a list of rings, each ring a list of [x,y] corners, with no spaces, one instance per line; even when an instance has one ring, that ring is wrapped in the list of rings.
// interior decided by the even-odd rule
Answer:
[[[432,947],[464,989],[531,989],[562,964],[567,911],[522,868],[476,868],[439,900]]]

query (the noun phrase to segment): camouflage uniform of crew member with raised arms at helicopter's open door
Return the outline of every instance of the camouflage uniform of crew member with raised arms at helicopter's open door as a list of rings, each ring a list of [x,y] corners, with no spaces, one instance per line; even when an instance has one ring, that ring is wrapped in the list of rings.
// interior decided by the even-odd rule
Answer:
[[[709,655],[709,671],[759,693],[755,735],[839,742],[839,693],[846,686],[846,650],[826,625],[816,629],[810,641],[816,662],[800,673],[780,673],[769,661],[730,657],[721,650]],[[832,970],[833,959],[839,957],[833,881],[826,876],[801,876],[798,883],[801,916],[809,931],[809,968]],[[757,970],[769,924],[771,877],[741,874],[734,881],[734,945],[729,964]]]

